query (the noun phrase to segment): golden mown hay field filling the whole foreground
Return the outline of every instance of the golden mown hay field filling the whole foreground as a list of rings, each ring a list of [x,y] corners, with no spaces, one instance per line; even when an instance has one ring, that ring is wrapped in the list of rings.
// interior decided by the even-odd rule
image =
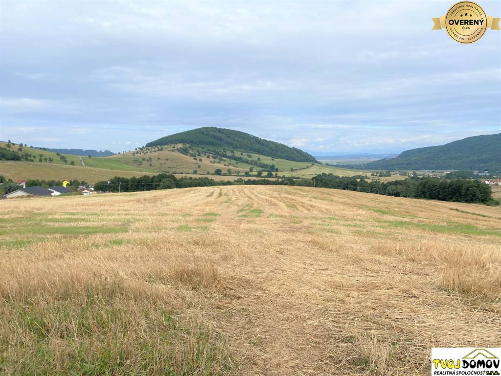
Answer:
[[[0,202],[0,373],[424,375],[501,346],[501,211],[292,186]]]

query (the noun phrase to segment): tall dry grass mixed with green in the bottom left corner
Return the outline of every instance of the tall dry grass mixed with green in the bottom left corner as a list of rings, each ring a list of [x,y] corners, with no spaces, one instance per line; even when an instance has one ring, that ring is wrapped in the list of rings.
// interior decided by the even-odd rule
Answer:
[[[234,374],[222,335],[194,319],[151,305],[138,322],[100,291],[80,293],[50,305],[37,297],[11,303],[0,320],[15,334],[0,337],[0,369],[41,376]]]

